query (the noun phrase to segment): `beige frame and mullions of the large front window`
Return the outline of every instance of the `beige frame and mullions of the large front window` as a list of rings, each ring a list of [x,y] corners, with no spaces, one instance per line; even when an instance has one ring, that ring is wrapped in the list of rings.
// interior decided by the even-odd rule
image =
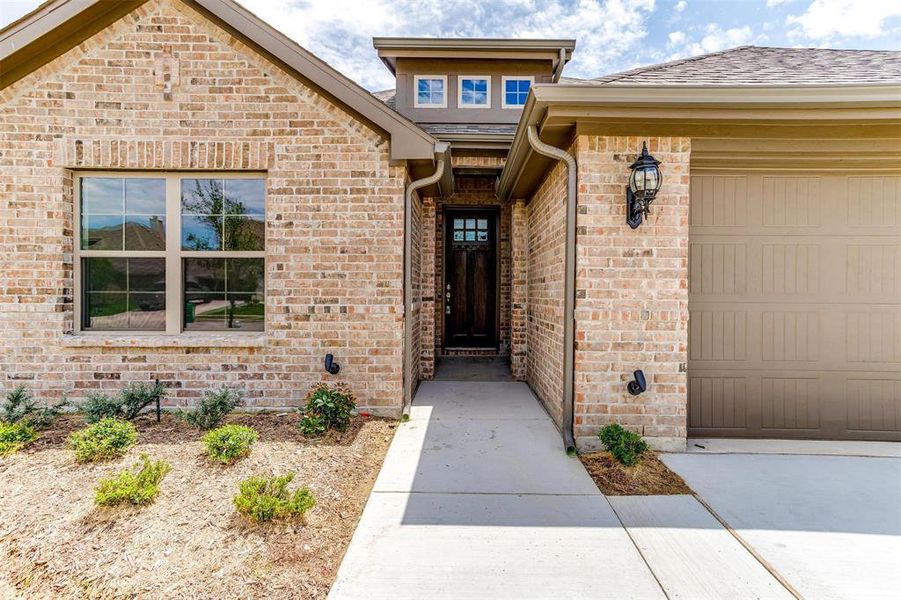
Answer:
[[[266,250],[217,250],[217,251],[193,251],[181,248],[181,180],[182,179],[264,179],[266,173],[261,171],[82,171],[73,174],[75,231],[74,231],[74,327],[73,331],[78,335],[90,336],[159,336],[159,335],[185,335],[185,336],[221,336],[234,335],[246,336],[246,331],[184,331],[182,324],[184,319],[183,284],[182,273],[183,258],[262,258],[263,259],[263,305],[266,304],[266,286],[269,277],[266,273]],[[81,248],[81,180],[84,177],[114,177],[119,179],[165,179],[166,180],[166,250],[82,250]],[[267,185],[268,188],[268,185]],[[265,198],[264,223],[268,222],[268,193]],[[268,226],[263,227],[263,248],[266,248],[268,240]],[[82,281],[81,259],[83,258],[164,258],[166,260],[166,328],[165,330],[147,331],[143,329],[84,329],[82,327]],[[264,313],[265,314],[265,313]],[[254,334],[262,335],[266,332],[266,319],[263,320],[263,331],[254,331]]]

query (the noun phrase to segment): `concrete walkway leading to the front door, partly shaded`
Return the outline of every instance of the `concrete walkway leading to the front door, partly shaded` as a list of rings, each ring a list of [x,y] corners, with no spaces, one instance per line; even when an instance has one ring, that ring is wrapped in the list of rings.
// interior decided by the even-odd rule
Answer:
[[[525,384],[423,383],[329,598],[663,598]]]

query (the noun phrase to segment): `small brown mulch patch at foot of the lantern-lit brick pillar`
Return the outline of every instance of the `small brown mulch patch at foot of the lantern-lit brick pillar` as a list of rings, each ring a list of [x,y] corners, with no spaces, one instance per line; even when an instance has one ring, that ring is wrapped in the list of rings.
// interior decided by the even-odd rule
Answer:
[[[634,466],[626,467],[609,452],[580,454],[598,489],[607,496],[657,496],[691,494],[682,478],[669,470],[654,452],[645,452]]]

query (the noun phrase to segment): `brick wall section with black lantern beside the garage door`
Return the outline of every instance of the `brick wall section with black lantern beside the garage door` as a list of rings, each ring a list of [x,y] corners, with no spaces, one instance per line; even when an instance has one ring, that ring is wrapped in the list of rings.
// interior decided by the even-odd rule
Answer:
[[[647,222],[626,225],[629,165],[647,140],[663,187]],[[579,165],[575,435],[598,446],[617,422],[657,448],[683,448],[688,361],[688,138],[586,137]],[[531,342],[530,342],[531,345]],[[643,369],[648,391],[626,383]]]

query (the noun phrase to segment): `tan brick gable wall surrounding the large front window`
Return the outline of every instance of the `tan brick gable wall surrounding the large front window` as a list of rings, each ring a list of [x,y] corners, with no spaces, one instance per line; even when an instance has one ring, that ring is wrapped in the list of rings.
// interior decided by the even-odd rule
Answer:
[[[266,333],[70,335],[81,168],[265,171]],[[276,407],[337,378],[364,410],[399,413],[404,169],[381,134],[187,5],[151,0],[0,92],[0,169],[3,389],[78,398],[159,378],[176,404],[228,383]]]

